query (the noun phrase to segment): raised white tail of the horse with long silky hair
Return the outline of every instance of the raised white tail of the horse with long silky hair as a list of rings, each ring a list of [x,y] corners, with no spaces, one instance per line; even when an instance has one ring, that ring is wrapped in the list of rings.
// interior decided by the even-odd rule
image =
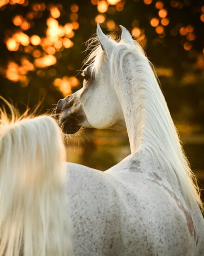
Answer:
[[[0,97],[4,100],[2,97]],[[65,149],[49,116],[0,109],[0,255],[71,256]]]

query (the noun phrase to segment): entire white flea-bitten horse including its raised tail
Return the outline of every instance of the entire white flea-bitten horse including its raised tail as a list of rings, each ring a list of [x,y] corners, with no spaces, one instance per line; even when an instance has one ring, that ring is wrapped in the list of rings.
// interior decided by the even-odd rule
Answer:
[[[0,111],[0,256],[201,256],[203,204],[157,80],[122,27],[97,28],[84,86],[59,101],[65,133],[127,127],[106,172],[67,163],[56,122]]]

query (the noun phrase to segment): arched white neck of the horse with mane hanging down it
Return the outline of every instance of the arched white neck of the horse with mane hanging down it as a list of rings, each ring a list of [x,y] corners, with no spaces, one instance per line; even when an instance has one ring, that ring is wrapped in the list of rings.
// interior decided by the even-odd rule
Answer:
[[[115,64],[118,59],[115,58]],[[178,184],[188,206],[193,209],[196,200],[204,209],[196,179],[147,58],[141,52],[129,52],[120,63],[114,86],[125,118],[131,153],[149,152],[153,162],[166,172],[172,188]],[[112,67],[112,74],[116,74],[118,65]]]

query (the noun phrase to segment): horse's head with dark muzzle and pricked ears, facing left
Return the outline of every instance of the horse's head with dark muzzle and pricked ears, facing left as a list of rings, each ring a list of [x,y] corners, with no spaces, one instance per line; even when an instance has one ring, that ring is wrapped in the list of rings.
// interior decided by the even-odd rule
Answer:
[[[133,43],[127,29],[121,28],[121,41]],[[65,134],[74,134],[81,127],[116,130],[126,127],[109,65],[111,53],[118,44],[103,34],[99,24],[97,38],[100,45],[93,54],[94,61],[82,73],[83,88],[57,103],[59,126]]]

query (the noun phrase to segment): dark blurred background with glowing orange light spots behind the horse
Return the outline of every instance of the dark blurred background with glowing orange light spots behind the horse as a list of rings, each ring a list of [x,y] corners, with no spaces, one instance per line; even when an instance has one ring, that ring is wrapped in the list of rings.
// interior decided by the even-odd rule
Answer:
[[[204,186],[203,0],[0,0],[0,95],[39,112],[82,87],[86,45],[99,22],[126,27],[156,67],[191,167]],[[105,170],[130,153],[126,131],[67,139],[68,161]]]

